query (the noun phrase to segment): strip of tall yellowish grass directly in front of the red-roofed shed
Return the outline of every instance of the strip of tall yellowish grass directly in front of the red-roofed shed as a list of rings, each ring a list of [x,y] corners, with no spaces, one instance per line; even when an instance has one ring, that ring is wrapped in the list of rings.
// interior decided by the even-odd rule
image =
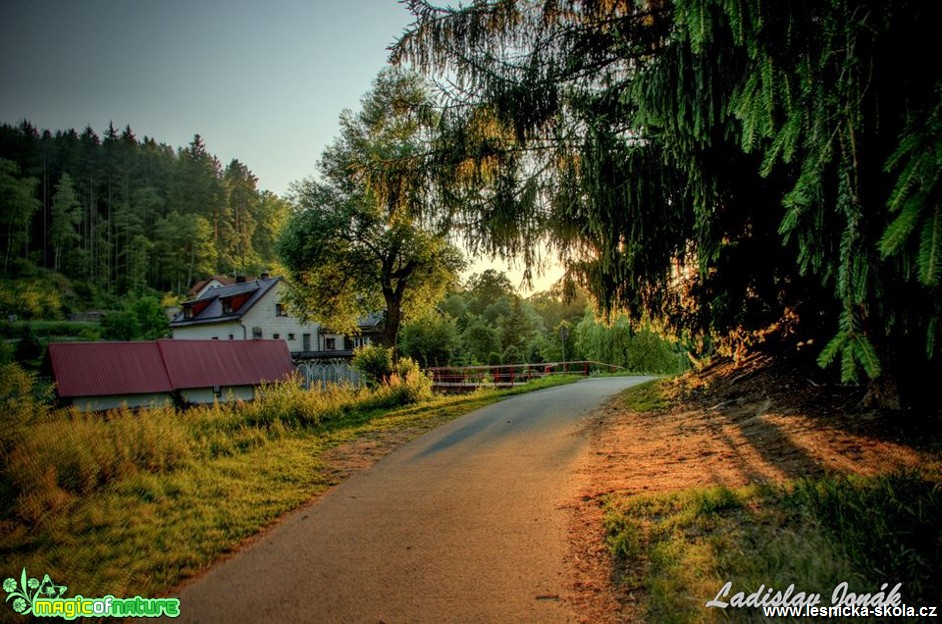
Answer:
[[[296,378],[260,387],[250,402],[87,414],[49,410],[32,395],[35,379],[18,367],[0,373],[0,493],[13,500],[7,517],[30,523],[42,522],[77,496],[133,476],[171,473],[246,453],[292,432],[316,430],[354,412],[431,397],[428,378],[410,371],[372,390],[310,391]]]

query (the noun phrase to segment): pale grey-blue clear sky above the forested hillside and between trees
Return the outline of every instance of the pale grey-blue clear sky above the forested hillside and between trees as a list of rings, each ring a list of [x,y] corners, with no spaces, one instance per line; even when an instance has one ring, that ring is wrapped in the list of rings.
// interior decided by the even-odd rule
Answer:
[[[283,195],[315,174],[411,22],[396,0],[2,0],[0,122],[112,122],[175,148],[199,134]],[[474,270],[488,266],[511,269]]]

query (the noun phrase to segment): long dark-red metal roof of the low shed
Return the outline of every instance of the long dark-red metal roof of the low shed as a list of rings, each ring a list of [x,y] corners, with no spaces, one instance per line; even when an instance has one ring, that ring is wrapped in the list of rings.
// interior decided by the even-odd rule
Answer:
[[[60,342],[49,358],[61,397],[249,386],[294,371],[284,340]]]

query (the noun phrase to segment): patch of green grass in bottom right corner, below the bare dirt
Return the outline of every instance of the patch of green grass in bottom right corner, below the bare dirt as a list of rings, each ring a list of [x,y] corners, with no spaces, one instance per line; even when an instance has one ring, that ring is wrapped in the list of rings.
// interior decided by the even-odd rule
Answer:
[[[847,582],[858,593],[903,583],[906,604],[939,605],[940,517],[939,483],[906,473],[615,496],[606,526],[617,582],[641,597],[645,621],[755,622],[756,609],[706,602],[726,582],[727,602],[794,584],[829,606]]]

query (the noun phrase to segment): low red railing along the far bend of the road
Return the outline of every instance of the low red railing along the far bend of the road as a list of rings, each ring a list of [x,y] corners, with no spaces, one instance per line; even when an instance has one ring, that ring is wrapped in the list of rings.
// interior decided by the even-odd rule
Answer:
[[[511,387],[547,375],[591,375],[598,372],[624,370],[621,366],[579,360],[576,362],[542,362],[539,364],[499,364],[494,366],[439,366],[426,369],[432,374],[433,385],[446,389],[473,389],[480,386]]]

